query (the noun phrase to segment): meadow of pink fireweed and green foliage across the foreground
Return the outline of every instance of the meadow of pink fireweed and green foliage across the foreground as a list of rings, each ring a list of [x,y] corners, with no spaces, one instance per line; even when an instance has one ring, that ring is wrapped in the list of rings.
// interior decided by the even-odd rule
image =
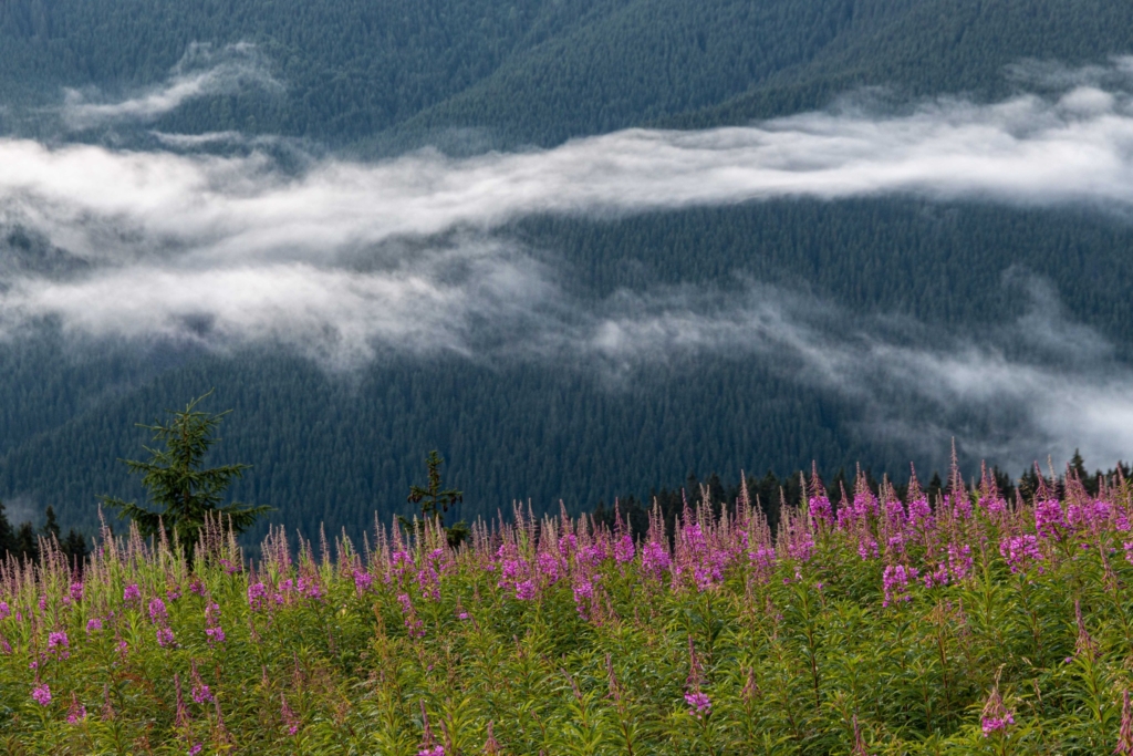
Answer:
[[[1092,487],[1092,485],[1091,485]],[[0,569],[11,754],[1133,754],[1133,489],[746,489]],[[704,493],[704,492],[701,492]],[[619,520],[620,521],[620,520]]]

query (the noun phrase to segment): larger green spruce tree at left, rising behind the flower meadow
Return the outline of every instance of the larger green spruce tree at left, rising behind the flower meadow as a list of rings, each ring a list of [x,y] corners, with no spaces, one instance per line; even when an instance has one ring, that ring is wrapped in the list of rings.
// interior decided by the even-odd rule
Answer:
[[[182,410],[168,410],[173,416],[168,425],[139,425],[152,431],[153,440],[164,448],[146,447],[150,459],[145,461],[121,460],[131,474],[142,476],[150,503],[159,507],[157,511],[102,496],[104,504],[136,523],[144,536],[160,535],[173,543],[185,543],[190,552],[207,518],[219,518],[235,533],[242,533],[271,509],[239,502],[222,503],[225,490],[249,465],[203,467],[210,448],[219,441],[213,435],[216,427],[231,411],[213,414],[197,409],[197,405],[211,394],[212,391],[194,399]]]

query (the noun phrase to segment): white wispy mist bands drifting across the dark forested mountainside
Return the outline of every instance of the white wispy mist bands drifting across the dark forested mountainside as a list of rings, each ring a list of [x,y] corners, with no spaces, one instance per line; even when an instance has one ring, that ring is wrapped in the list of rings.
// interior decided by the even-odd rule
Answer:
[[[178,71],[170,86],[135,100],[75,100],[68,118],[145,120],[241,76],[269,82],[248,74],[262,68],[233,60]],[[1114,70],[1122,67],[1133,62]],[[774,352],[794,359],[802,380],[877,407],[884,387],[937,410],[1017,409],[1022,430],[988,438],[989,457],[1029,461],[1019,445],[1025,435],[1028,449],[1068,452],[1057,444],[1074,439],[1089,458],[1114,459],[1133,449],[1133,375],[1111,364],[1097,334],[1049,313],[1032,313],[1019,332],[1085,349],[1074,371],[1013,362],[989,343],[927,349],[868,328],[835,341],[802,314],[815,303],[800,307],[758,286],[727,305],[687,289],[583,304],[545,263],[485,233],[534,213],[603,216],[782,197],[912,195],[1127,214],[1130,96],[1097,76],[1070,84],[1055,96],[990,105],[938,100],[904,114],[843,110],[746,128],[633,129],[468,159],[429,151],[375,163],[327,159],[300,175],[259,153],[0,139],[0,224],[61,250],[46,265],[0,247],[0,337],[54,320],[78,337],[215,349],[279,343],[337,367],[451,352],[594,362],[615,374],[704,352]],[[196,138],[162,137],[181,148]],[[889,433],[913,427],[878,417]]]

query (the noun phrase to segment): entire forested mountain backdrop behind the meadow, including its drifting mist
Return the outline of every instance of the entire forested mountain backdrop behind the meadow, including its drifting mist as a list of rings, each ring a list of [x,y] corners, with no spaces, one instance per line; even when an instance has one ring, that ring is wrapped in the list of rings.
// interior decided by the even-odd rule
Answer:
[[[1113,0],[0,7],[0,500],[212,388],[270,523],[1133,448]]]

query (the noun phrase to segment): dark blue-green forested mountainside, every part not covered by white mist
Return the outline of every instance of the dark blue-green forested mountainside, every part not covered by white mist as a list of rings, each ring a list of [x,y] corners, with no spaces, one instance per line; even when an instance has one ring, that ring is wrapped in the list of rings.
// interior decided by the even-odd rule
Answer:
[[[483,152],[746,124],[868,87],[903,105],[981,102],[1016,92],[1036,60],[1108,65],[1130,53],[1126,0],[6,0],[0,135],[140,150],[154,133],[233,131],[352,159]],[[133,120],[68,120],[75,102],[144,99],[224,61],[236,83]],[[19,220],[0,207],[0,272],[66,263]],[[726,303],[774,287],[827,308],[819,356],[889,329],[922,349],[987,342],[980,354],[993,359],[1043,366],[1076,365],[1079,341],[1110,372],[1133,357],[1133,227],[1113,209],[780,199],[534,214],[491,235],[530,252],[583,306],[658,290]],[[1036,324],[1054,333],[1038,346]],[[539,510],[559,499],[588,510],[680,485],[690,470],[733,479],[812,459],[903,478],[910,458],[938,465],[949,435],[971,432],[960,449],[973,466],[1024,427],[1017,408],[964,414],[908,387],[847,388],[796,354],[743,343],[624,369],[497,350],[382,355],[335,372],[267,346],[210,354],[41,325],[0,334],[0,499],[16,521],[39,521],[51,504],[65,528],[93,527],[99,494],[139,495],[117,461],[143,453],[135,423],[214,387],[211,409],[233,409],[218,455],[253,465],[233,495],[308,532],[357,533],[375,510],[408,511],[434,448],[466,493],[459,515],[476,517],[527,498]],[[1073,398],[1067,385],[1050,394]],[[896,433],[898,419],[925,428],[915,443]],[[1045,456],[1045,442],[1013,451]]]

